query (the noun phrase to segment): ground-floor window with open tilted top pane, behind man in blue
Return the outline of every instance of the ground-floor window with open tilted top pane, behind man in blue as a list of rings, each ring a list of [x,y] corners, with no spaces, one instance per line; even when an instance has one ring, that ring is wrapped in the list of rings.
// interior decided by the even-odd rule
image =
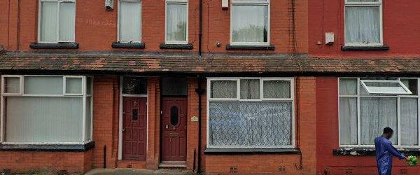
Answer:
[[[384,127],[395,146],[419,146],[418,78],[339,78],[340,146],[374,146]]]

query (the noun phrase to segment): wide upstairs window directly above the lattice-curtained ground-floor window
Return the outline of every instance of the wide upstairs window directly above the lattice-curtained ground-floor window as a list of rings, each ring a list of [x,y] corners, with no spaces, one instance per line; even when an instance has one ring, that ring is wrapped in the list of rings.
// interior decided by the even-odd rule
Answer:
[[[269,0],[232,0],[230,43],[269,45]]]

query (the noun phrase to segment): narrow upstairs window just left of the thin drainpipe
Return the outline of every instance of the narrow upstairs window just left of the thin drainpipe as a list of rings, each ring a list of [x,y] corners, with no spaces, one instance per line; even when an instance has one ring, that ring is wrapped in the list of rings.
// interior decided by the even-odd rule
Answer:
[[[165,43],[188,43],[188,0],[166,1]]]

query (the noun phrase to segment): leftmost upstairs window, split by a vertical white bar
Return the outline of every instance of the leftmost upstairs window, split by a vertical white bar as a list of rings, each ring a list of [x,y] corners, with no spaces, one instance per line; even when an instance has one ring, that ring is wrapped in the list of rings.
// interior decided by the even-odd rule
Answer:
[[[39,43],[74,42],[76,0],[40,0]]]

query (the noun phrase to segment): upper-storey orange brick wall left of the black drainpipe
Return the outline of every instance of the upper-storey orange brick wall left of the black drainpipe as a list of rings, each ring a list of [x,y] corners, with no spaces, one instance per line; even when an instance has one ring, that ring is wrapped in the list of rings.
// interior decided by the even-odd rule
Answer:
[[[6,50],[31,50],[29,44],[38,41],[38,1],[20,0],[20,31],[18,31],[18,0],[0,1],[0,45]],[[10,3],[9,3],[10,2]],[[165,1],[142,1],[142,42],[146,51],[160,50],[165,43]],[[10,6],[10,13],[8,11]],[[197,50],[198,1],[189,1],[189,36]],[[79,50],[116,50],[118,0],[114,10],[105,10],[104,1],[76,0],[76,42]],[[18,39],[17,39],[18,38]],[[180,50],[177,50],[180,51]]]

